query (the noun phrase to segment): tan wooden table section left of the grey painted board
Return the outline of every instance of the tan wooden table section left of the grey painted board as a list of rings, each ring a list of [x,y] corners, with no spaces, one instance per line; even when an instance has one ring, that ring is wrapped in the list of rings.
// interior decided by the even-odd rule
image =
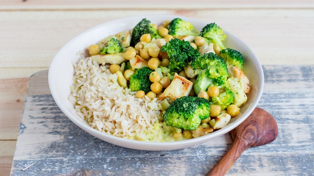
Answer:
[[[0,175],[10,174],[28,80],[0,80]]]

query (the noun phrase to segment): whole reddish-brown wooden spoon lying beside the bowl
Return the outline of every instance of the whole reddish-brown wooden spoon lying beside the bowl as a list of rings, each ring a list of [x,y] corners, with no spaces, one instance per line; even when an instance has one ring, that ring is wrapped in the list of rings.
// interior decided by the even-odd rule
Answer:
[[[271,114],[257,107],[244,122],[231,130],[230,134],[232,145],[208,176],[225,175],[247,148],[273,142],[278,135],[278,127]]]

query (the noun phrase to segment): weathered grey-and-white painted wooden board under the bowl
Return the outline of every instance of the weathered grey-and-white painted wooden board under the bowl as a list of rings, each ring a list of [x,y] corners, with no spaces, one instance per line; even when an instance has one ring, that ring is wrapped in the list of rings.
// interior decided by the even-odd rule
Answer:
[[[278,137],[247,149],[227,175],[313,175],[314,66],[264,65],[263,70],[258,107],[275,117]],[[229,134],[173,151],[103,142],[60,111],[46,78],[41,71],[30,79],[11,175],[206,175],[231,145]]]

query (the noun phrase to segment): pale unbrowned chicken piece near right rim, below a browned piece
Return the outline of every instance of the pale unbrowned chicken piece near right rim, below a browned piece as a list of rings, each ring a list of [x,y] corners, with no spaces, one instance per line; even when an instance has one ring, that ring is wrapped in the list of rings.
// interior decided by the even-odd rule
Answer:
[[[228,79],[230,90],[233,92],[233,95],[235,96],[233,103],[234,105],[240,107],[245,104],[247,101],[247,96],[244,92],[244,85],[241,80],[238,80],[237,78],[231,77]]]

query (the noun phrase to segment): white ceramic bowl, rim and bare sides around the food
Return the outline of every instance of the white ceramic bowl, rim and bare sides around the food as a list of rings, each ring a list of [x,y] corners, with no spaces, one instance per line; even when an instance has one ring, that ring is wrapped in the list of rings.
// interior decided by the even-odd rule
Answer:
[[[139,150],[173,150],[198,145],[221,135],[224,135],[225,133],[231,131],[233,128],[238,126],[252,113],[254,108],[257,106],[257,103],[263,91],[264,76],[262,66],[255,54],[249,48],[249,46],[247,46],[241,39],[237,38],[227,31],[224,31],[224,33],[227,35],[227,38],[225,40],[225,46],[236,49],[243,54],[245,59],[243,71],[249,78],[250,84],[252,86],[252,90],[248,94],[248,100],[246,104],[241,107],[240,112],[242,115],[238,115],[237,117],[235,117],[234,120],[232,122],[229,122],[226,127],[202,137],[176,142],[144,142],[124,139],[121,137],[115,137],[102,133],[89,127],[89,125],[76,114],[73,104],[71,104],[71,102],[68,100],[68,96],[71,94],[70,86],[73,84],[72,77],[74,75],[73,65],[71,62],[78,61],[78,55],[76,55],[76,53],[79,50],[86,49],[86,47],[90,44],[98,43],[101,39],[105,38],[108,35],[117,34],[118,32],[122,32],[125,30],[130,30],[143,18],[147,18],[152,23],[155,23],[157,25],[160,25],[165,20],[181,18],[192,23],[199,30],[201,30],[207,24],[197,19],[174,15],[134,16],[100,24],[70,40],[59,50],[59,52],[53,58],[49,68],[48,81],[50,91],[54,100],[56,101],[61,111],[73,123],[75,123],[78,127],[82,128],[89,134],[103,141],[118,146]]]

